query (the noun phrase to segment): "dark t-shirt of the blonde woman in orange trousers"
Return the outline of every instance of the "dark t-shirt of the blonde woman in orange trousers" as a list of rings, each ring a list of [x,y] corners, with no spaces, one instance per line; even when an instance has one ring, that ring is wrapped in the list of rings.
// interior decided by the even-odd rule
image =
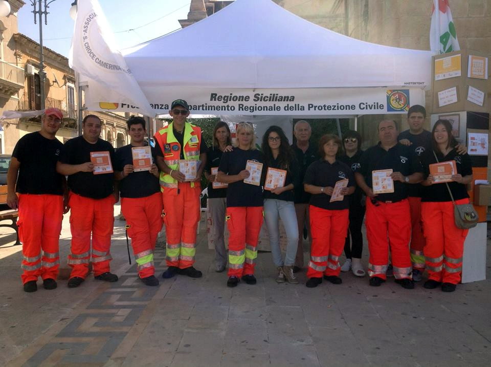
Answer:
[[[228,175],[238,175],[245,169],[247,161],[263,163],[262,153],[257,149],[243,150],[234,148],[221,156],[218,171]],[[264,166],[262,167],[264,170]],[[227,207],[229,206],[262,206],[262,187],[236,181],[227,187]]]

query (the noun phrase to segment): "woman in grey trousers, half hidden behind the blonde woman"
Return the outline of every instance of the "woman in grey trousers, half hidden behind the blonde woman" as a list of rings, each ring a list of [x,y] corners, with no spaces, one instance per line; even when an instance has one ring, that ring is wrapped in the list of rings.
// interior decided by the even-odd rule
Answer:
[[[222,272],[227,265],[227,249],[225,248],[225,212],[227,209],[227,188],[213,188],[216,181],[215,169],[225,148],[232,145],[230,128],[226,122],[218,122],[213,129],[213,145],[206,152],[205,178],[208,183],[207,208],[211,214],[211,235],[215,245],[215,271]]]

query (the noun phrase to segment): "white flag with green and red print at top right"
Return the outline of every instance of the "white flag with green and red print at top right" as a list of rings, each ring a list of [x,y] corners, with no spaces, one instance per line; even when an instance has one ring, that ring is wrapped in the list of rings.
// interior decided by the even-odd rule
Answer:
[[[435,55],[460,50],[449,0],[433,0],[430,49]]]

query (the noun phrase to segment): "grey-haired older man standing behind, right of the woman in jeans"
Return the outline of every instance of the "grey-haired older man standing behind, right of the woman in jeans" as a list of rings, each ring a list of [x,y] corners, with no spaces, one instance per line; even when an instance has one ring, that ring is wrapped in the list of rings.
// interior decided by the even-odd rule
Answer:
[[[299,182],[303,182],[308,166],[318,159],[317,151],[315,147],[310,145],[309,141],[312,135],[312,129],[307,121],[297,121],[293,128],[293,134],[295,135],[296,141],[292,144],[292,148],[300,165],[298,180]],[[298,247],[295,266],[293,267],[293,272],[296,273],[303,268],[303,229],[305,225],[307,226],[308,238],[310,240],[310,226],[308,223],[308,202],[310,200],[310,194],[305,192],[303,185],[295,186],[294,193],[295,212],[298,222]]]

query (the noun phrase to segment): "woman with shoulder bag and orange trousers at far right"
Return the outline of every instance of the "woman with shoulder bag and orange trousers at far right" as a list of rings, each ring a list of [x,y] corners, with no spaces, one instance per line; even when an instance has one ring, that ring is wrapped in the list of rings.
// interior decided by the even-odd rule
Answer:
[[[421,198],[421,219],[426,245],[423,250],[426,258],[428,280],[426,289],[441,286],[443,292],[453,292],[460,282],[462,255],[468,229],[455,225],[454,204],[470,203],[466,185],[472,181],[471,158],[459,155],[458,144],[452,135],[452,124],[448,120],[438,120],[433,126],[432,149],[421,157],[426,180]],[[457,172],[451,182],[435,182],[430,174],[430,164],[455,161]],[[445,187],[448,184],[448,188]],[[452,192],[450,195],[449,190]]]

